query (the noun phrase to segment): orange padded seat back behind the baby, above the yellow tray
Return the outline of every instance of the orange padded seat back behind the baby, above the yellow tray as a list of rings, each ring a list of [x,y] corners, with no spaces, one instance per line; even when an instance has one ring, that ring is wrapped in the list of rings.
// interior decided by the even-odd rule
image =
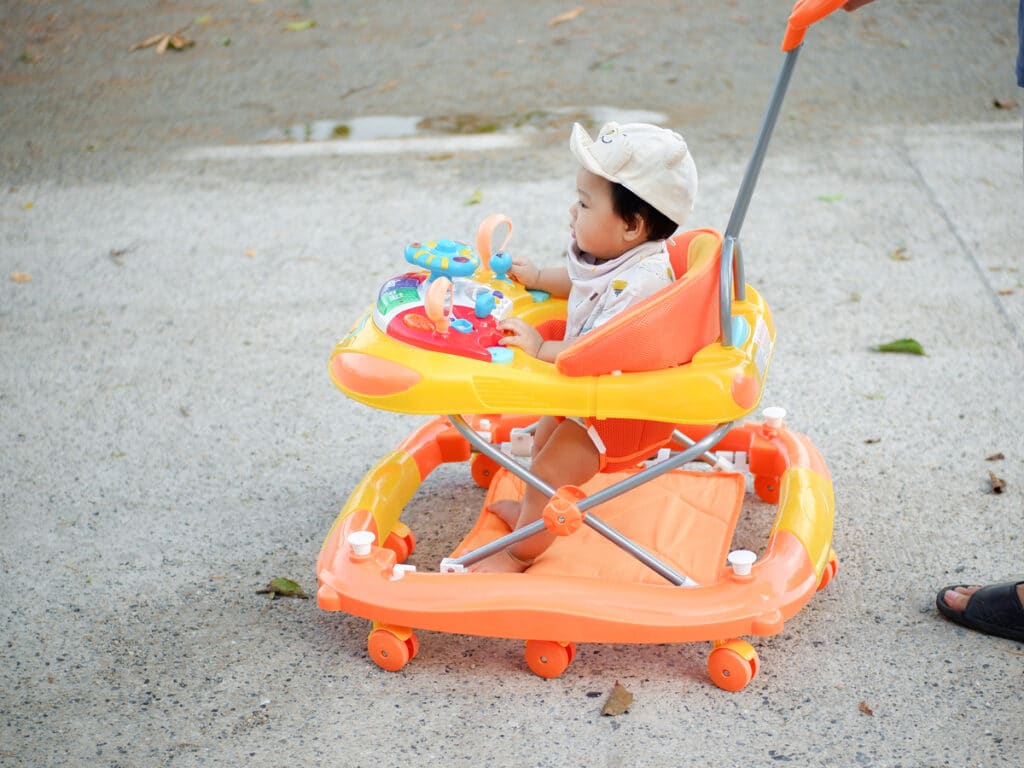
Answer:
[[[675,282],[572,342],[555,360],[559,373],[599,376],[675,368],[719,339],[722,236],[691,229],[666,243]]]

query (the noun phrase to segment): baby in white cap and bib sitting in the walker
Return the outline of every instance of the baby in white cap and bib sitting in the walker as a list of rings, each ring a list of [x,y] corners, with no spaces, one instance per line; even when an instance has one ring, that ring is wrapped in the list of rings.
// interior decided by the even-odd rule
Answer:
[[[548,362],[574,339],[673,282],[665,240],[689,217],[697,189],[686,141],[665,128],[609,123],[594,140],[578,123],[569,148],[581,168],[577,201],[569,208],[567,263],[542,269],[515,257],[509,270],[527,288],[567,297],[564,338],[545,340],[517,317],[501,325],[508,334],[502,343]],[[552,487],[582,485],[606,466],[646,458],[652,435],[664,444],[672,430],[671,424],[656,422],[545,416],[534,435],[532,472]],[[516,529],[539,520],[547,502],[527,485],[521,502],[501,501],[490,511]],[[525,570],[553,541],[545,530],[470,570]]]

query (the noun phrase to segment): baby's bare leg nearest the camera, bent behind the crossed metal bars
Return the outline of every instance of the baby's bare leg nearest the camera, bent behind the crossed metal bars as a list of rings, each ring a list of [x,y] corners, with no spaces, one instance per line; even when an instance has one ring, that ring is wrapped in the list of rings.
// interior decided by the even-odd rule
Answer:
[[[545,439],[534,458],[534,473],[554,488],[582,485],[600,468],[601,457],[587,430],[572,421],[559,423]],[[548,499],[532,485],[527,485],[519,508],[515,528],[540,520]],[[529,566],[554,542],[547,530],[519,542],[470,566],[478,572],[516,572]]]

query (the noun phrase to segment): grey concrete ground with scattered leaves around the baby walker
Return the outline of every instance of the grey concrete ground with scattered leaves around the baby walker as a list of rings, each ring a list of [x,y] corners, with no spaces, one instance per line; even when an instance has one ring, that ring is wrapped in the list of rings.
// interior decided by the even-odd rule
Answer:
[[[684,132],[691,223],[724,228],[790,3],[552,24],[574,7],[3,4],[0,765],[1018,764],[1024,646],[934,608],[1024,567],[1013,0],[808,34],[743,244],[778,330],[765,404],[829,464],[841,565],[753,639],[746,689],[709,682],[706,646],[584,644],[545,681],[518,641],[430,632],[389,674],[366,621],[256,594],[313,592],[338,508],[423,421],[327,374],[407,241],[501,211],[554,263],[571,120],[628,110]],[[182,28],[194,47],[128,51]],[[433,120],[358,138],[373,116]],[[265,140],[322,123],[352,133]],[[902,337],[927,356],[872,350]],[[421,568],[480,500],[461,467],[424,483]],[[634,705],[602,717],[616,680]]]

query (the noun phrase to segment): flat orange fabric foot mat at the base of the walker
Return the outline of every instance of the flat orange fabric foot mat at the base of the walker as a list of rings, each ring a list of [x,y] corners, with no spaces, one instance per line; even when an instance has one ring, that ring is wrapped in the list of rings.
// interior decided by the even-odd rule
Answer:
[[[583,489],[593,495],[626,476],[625,472],[598,474]],[[522,487],[518,477],[499,471],[476,525],[454,556],[508,534],[508,526],[487,507],[497,501],[520,499]],[[674,470],[591,511],[667,565],[698,584],[712,584],[725,567],[745,487],[743,475],[736,472]],[[574,534],[558,538],[527,573],[668,584],[586,523]]]

